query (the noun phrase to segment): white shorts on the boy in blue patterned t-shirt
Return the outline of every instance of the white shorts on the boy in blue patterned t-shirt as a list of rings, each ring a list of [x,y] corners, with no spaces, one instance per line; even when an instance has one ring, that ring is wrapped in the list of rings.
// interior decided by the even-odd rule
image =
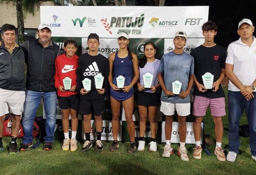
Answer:
[[[190,114],[190,103],[167,103],[161,101],[160,111],[164,115],[173,115],[175,110],[180,116],[187,116]]]

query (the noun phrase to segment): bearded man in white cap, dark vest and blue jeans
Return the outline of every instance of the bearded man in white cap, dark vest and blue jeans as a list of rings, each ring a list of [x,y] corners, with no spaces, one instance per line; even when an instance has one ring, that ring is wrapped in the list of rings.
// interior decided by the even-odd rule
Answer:
[[[43,150],[51,150],[56,124],[57,94],[54,86],[55,59],[60,55],[60,47],[51,40],[52,29],[49,24],[38,26],[38,39],[28,40],[22,44],[25,52],[27,70],[27,92],[22,120],[24,137],[20,151],[27,151],[33,145],[32,128],[43,98],[46,116]]]

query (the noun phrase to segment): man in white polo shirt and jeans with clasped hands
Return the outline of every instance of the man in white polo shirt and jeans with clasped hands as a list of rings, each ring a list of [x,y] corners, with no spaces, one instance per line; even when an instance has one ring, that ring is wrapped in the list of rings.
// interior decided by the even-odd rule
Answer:
[[[239,121],[244,109],[250,128],[251,154],[256,161],[256,38],[252,36],[253,32],[251,20],[243,19],[237,30],[240,38],[229,44],[227,49],[229,162],[234,162],[238,153]]]

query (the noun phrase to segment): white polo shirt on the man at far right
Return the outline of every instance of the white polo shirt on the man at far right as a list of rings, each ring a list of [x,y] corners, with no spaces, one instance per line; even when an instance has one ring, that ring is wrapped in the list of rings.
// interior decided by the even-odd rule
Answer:
[[[250,47],[243,43],[241,38],[230,43],[226,63],[234,65],[233,72],[242,84],[251,85],[256,79],[256,38],[253,36]],[[230,80],[228,90],[240,91]]]

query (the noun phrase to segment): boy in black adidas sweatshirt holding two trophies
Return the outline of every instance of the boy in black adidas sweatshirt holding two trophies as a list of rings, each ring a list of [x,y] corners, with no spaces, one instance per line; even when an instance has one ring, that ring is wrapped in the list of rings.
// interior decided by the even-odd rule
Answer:
[[[89,51],[79,57],[77,68],[77,91],[80,92],[79,110],[84,116],[84,130],[85,130],[85,144],[81,151],[88,151],[92,147],[90,139],[91,131],[91,117],[92,110],[95,117],[95,127],[97,131],[96,150],[102,151],[103,145],[101,143],[102,131],[102,114],[105,111],[105,94],[108,92],[108,61],[107,59],[98,54],[99,36],[96,33],[91,33],[88,36],[87,45]],[[102,89],[95,89],[94,76],[101,74],[104,77]],[[87,91],[82,81],[85,78],[91,80],[91,90]]]

